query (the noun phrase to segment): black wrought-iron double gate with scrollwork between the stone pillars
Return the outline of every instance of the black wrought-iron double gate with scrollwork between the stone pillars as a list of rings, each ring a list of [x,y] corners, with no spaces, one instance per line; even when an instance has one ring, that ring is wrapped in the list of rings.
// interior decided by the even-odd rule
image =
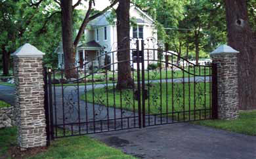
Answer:
[[[148,48],[151,41],[136,41],[136,49],[77,65],[70,70],[72,79],[65,79],[62,69],[45,68],[49,138],[217,118],[216,65],[196,65],[173,52]],[[125,62],[116,60],[120,51],[132,55],[133,84],[123,90],[116,89],[118,65]]]

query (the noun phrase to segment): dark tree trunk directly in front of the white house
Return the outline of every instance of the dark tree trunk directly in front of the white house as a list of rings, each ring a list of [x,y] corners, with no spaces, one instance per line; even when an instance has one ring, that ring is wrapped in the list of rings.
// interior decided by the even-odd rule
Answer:
[[[130,48],[130,0],[120,0],[117,7],[117,48],[118,50]],[[121,90],[133,88],[131,78],[130,50],[118,51],[118,79],[116,88]]]

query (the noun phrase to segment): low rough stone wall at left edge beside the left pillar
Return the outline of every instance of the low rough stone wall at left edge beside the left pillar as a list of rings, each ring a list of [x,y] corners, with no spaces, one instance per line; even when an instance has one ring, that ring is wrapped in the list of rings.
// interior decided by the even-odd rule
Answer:
[[[0,108],[0,129],[16,125],[14,107]]]

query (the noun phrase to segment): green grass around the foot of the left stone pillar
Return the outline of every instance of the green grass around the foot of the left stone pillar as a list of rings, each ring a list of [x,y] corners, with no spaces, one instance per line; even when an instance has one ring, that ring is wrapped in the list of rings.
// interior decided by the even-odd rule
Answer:
[[[0,156],[11,158],[7,150],[16,146],[16,128],[0,130]],[[1,157],[0,157],[1,158]],[[16,158],[20,158],[16,156]],[[24,154],[22,158],[45,159],[45,158],[83,158],[83,159],[136,159],[133,156],[123,154],[121,150],[114,149],[87,136],[66,137],[56,139],[51,146],[38,154]]]

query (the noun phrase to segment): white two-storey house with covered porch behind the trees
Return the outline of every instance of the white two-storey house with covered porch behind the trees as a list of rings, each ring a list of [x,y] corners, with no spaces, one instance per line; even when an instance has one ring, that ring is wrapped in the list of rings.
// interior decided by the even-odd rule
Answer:
[[[106,12],[88,24],[87,29],[84,31],[84,43],[80,42],[77,46],[77,54],[75,57],[77,66],[79,66],[80,63],[93,61],[94,66],[100,67],[104,65],[105,58],[105,56],[100,55],[117,50],[117,27],[115,20],[114,23],[109,22],[108,17],[110,14],[110,11]],[[154,39],[154,42],[149,41],[149,43],[145,45],[146,48],[157,48],[156,43],[158,36],[157,30],[154,26],[154,20],[135,6],[131,6],[130,16],[131,19],[137,24],[135,27],[131,26],[130,29],[130,37],[133,39],[133,41],[131,41],[131,48],[136,49],[136,45],[134,44],[136,39],[146,40],[147,38]],[[56,52],[58,52],[58,67],[64,67],[64,56],[61,44],[56,49]],[[117,52],[114,52],[114,55],[109,55],[111,63],[117,62],[116,53]],[[147,55],[147,53],[145,55]],[[98,58],[98,56],[100,56],[100,58]],[[148,56],[145,56],[144,58],[148,58]],[[157,52],[153,50],[150,51],[149,58],[156,59]],[[91,64],[92,63],[89,63],[87,67],[89,67]],[[136,68],[136,65],[134,67]],[[147,63],[145,63],[145,67],[147,67]],[[81,67],[81,69],[83,68],[84,67]],[[114,65],[112,69],[116,70],[117,65]]]

